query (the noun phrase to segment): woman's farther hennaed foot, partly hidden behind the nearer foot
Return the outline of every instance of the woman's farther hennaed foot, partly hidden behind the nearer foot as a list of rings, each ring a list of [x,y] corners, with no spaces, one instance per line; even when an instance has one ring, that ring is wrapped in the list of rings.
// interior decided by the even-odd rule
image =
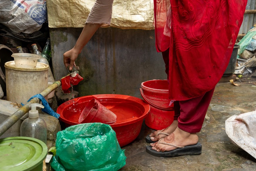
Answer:
[[[165,138],[167,135],[165,134],[158,134],[160,131],[161,133],[167,133],[167,134],[171,134],[173,133],[173,131],[178,127],[178,120],[174,120],[172,122],[172,124],[170,126],[168,126],[167,128],[165,128],[164,130],[157,130],[155,132],[153,132],[152,134],[149,135],[150,139],[152,141],[157,142],[158,140],[160,140],[161,138]],[[158,134],[158,135],[157,135]]]

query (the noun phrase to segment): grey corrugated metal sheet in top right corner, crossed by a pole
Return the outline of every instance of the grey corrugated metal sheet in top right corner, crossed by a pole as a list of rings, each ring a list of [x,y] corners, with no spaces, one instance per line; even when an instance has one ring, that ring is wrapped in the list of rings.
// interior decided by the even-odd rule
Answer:
[[[255,0],[248,0],[246,9],[255,9]],[[256,21],[256,14],[245,14],[239,34],[246,34]]]

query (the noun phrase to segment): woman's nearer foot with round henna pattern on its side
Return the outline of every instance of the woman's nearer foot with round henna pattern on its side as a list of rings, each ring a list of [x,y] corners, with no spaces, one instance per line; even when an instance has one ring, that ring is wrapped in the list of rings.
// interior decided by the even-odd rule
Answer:
[[[188,133],[179,128],[176,128],[173,133],[160,140],[160,142],[169,143],[177,146],[195,145],[196,143],[198,143],[198,136],[196,135],[196,133]],[[178,148],[158,142],[151,143],[150,145],[152,146],[152,149],[156,150],[157,152],[171,151]]]

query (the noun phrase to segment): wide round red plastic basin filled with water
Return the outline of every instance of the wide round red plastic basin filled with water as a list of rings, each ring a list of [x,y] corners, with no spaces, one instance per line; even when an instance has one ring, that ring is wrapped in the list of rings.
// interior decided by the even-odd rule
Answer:
[[[75,98],[62,103],[57,108],[60,120],[65,123],[66,127],[80,124],[78,122],[79,116],[93,98],[116,114],[116,122],[110,125],[116,132],[116,138],[121,147],[138,137],[143,119],[150,111],[150,105],[133,96],[101,94]]]

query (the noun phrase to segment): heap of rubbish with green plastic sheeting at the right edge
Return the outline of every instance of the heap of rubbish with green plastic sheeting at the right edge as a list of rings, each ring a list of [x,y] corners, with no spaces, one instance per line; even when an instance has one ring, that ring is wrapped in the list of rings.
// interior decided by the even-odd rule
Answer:
[[[250,29],[237,44],[240,47],[234,74],[252,74],[256,69],[256,27]]]

